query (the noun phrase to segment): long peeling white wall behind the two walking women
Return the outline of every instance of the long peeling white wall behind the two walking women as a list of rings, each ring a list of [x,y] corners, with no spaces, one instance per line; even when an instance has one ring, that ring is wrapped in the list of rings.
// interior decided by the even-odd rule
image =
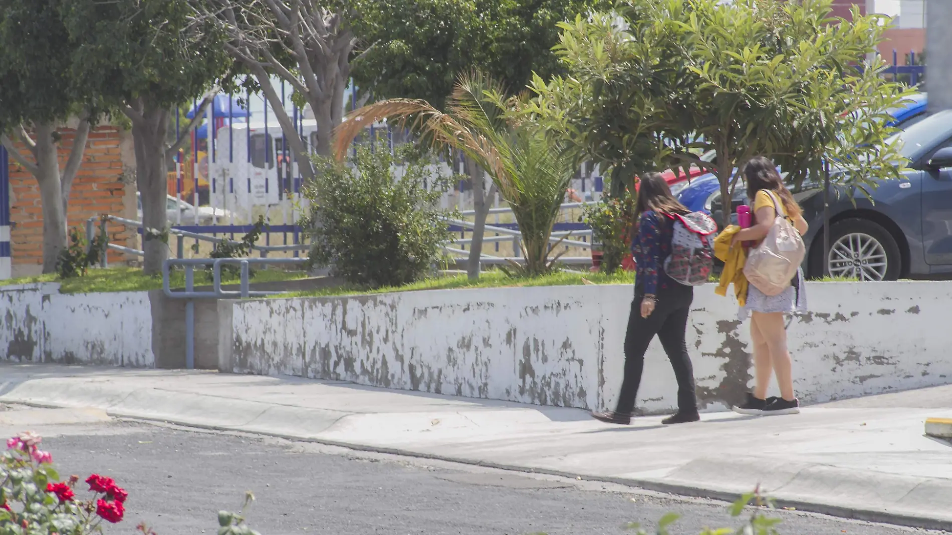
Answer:
[[[695,292],[687,345],[705,409],[752,383],[748,327],[733,298]],[[809,283],[789,347],[804,403],[945,384],[952,283]],[[439,290],[234,302],[225,366],[518,402],[611,407],[621,385],[631,287]],[[639,406],[675,406],[655,341]]]

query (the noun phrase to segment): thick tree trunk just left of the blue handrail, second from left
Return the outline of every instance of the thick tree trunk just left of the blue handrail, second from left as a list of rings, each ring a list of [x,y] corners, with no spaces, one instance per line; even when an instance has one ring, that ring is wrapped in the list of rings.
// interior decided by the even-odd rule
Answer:
[[[143,272],[155,275],[169,258],[169,218],[166,213],[166,130],[169,111],[146,106],[141,116],[132,120],[132,142],[135,146],[136,185],[142,197],[142,248],[145,251]]]

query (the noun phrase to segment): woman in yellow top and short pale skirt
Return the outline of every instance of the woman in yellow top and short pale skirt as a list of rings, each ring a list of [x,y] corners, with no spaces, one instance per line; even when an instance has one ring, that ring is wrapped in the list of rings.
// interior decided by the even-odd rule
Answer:
[[[734,235],[732,247],[740,242],[753,241],[760,244],[776,222],[777,215],[787,218],[801,235],[807,225],[803,210],[790,191],[783,186],[783,179],[773,162],[764,156],[753,158],[744,166],[747,197],[752,201],[753,225]],[[743,404],[734,406],[735,412],[750,415],[796,414],[800,402],[793,391],[793,365],[786,347],[784,314],[806,310],[806,293],[803,285],[803,269],[797,271],[790,287],[778,295],[764,295],[753,285],[747,288],[747,300],[739,317],[750,315],[750,340],[753,343],[754,375],[756,386],[747,394]],[[772,372],[772,373],[771,373]],[[770,375],[777,376],[780,386],[779,398],[767,398]]]

